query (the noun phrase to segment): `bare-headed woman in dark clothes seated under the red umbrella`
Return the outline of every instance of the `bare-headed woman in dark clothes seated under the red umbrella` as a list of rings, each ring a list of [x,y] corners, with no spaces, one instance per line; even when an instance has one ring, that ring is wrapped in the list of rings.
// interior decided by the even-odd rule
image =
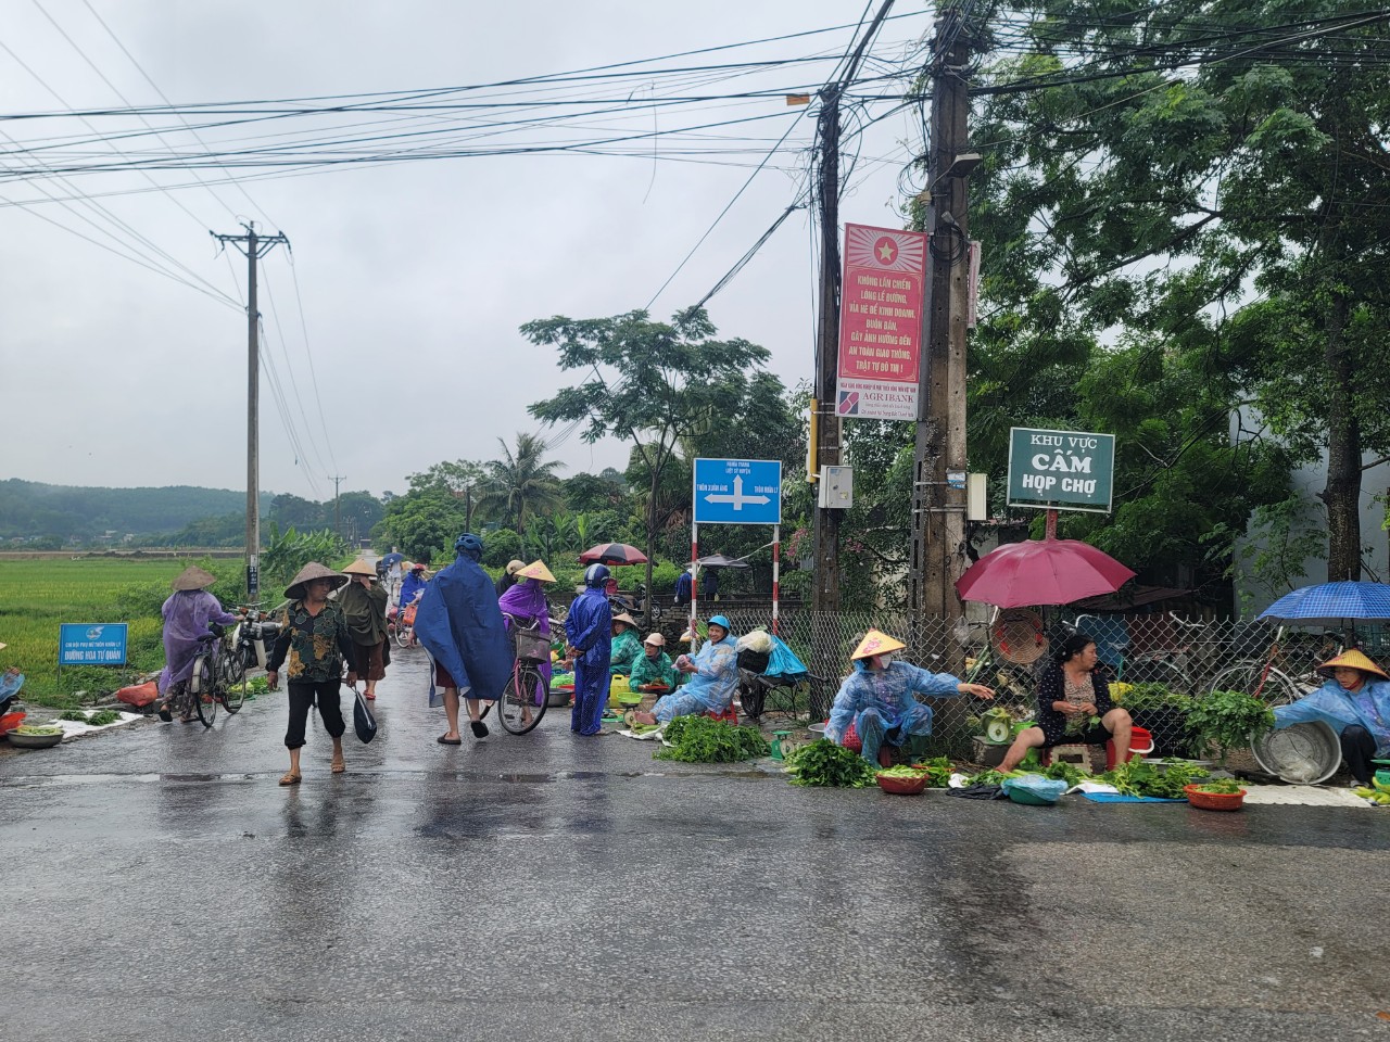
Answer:
[[[1105,678],[1095,672],[1095,640],[1086,634],[1073,634],[1062,642],[1054,664],[1038,682],[1038,722],[1009,746],[999,764],[1001,771],[1012,771],[1029,749],[1051,749],[1055,745],[1105,745],[1115,741],[1119,759],[1129,759],[1130,731],[1134,721],[1129,711],[1111,702]],[[1099,718],[1099,722],[1093,722]]]

